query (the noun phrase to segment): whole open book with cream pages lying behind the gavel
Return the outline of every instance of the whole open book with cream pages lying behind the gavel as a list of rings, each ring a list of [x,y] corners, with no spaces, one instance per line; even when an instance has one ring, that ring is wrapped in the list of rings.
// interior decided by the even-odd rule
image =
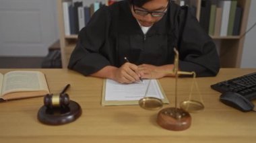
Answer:
[[[45,76],[40,71],[0,73],[0,101],[39,97],[49,93]]]

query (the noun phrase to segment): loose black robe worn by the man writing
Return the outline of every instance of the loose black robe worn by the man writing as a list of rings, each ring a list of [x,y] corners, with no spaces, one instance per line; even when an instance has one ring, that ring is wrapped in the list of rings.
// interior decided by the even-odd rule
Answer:
[[[191,9],[171,2],[166,12],[144,35],[128,1],[100,8],[79,32],[68,68],[90,75],[107,65],[120,67],[124,57],[137,65],[173,64],[177,47],[180,70],[195,71],[197,77],[217,75],[216,46]]]

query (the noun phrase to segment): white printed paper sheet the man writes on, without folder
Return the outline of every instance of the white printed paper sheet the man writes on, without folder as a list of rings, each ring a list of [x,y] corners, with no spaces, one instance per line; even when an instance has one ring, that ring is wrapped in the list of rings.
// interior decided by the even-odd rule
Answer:
[[[143,83],[121,84],[116,81],[106,79],[106,101],[134,101],[144,97],[150,80],[143,80]],[[162,92],[155,79],[152,79],[146,97],[156,97],[164,99]]]

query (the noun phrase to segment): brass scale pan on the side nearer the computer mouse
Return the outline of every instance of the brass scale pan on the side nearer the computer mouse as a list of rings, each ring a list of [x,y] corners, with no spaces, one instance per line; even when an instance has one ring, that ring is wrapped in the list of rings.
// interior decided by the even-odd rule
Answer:
[[[183,101],[181,102],[180,107],[189,113],[195,113],[204,109],[204,105],[195,100]]]

